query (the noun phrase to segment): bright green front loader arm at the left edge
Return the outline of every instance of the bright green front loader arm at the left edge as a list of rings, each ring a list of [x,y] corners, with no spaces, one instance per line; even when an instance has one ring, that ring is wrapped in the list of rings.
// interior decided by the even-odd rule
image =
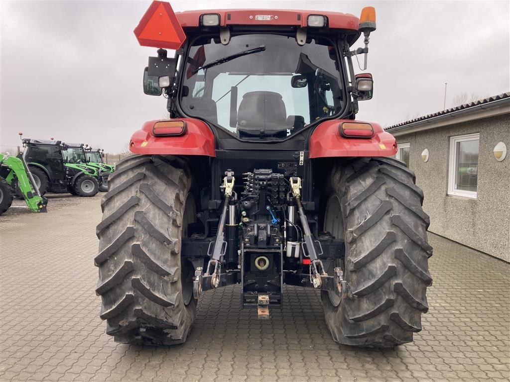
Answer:
[[[11,206],[14,189],[23,197],[29,209],[46,212],[48,200],[39,193],[24,158],[0,154],[0,215]]]

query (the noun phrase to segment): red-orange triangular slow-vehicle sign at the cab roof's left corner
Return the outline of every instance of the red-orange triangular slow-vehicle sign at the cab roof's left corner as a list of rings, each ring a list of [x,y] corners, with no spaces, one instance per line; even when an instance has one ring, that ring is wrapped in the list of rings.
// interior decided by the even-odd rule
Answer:
[[[134,30],[138,43],[155,48],[179,49],[186,35],[170,4],[154,1]]]

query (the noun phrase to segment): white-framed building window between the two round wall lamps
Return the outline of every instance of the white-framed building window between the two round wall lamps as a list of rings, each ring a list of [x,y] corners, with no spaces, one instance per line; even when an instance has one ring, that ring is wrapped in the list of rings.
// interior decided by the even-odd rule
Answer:
[[[448,194],[476,199],[480,134],[450,138]]]

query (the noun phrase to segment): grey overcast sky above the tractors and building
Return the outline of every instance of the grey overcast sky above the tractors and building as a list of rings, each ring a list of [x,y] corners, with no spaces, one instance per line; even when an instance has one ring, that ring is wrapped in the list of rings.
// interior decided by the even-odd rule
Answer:
[[[171,1],[175,11],[211,8],[377,12],[368,72],[374,98],[358,118],[390,125],[443,109],[466,92],[510,90],[510,2]],[[165,113],[163,97],[145,96],[142,71],[156,49],[133,29],[149,1],[0,0],[0,146],[25,137],[122,151],[146,120]],[[360,39],[354,47],[362,46]],[[361,62],[361,58],[360,58]],[[359,72],[357,70],[356,72]]]

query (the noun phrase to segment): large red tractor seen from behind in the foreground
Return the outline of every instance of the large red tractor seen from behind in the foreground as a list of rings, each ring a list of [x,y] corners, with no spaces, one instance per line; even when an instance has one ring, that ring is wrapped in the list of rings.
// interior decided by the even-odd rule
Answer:
[[[167,99],[103,198],[96,292],[107,334],[177,344],[197,299],[240,284],[259,318],[283,285],[320,290],[335,341],[413,340],[432,279],[423,193],[395,139],[355,120],[372,76],[354,74],[375,11],[174,13],[153,2],[135,34],[159,48],[144,92]],[[364,35],[364,47],[351,46]],[[174,57],[167,57],[174,49]]]

